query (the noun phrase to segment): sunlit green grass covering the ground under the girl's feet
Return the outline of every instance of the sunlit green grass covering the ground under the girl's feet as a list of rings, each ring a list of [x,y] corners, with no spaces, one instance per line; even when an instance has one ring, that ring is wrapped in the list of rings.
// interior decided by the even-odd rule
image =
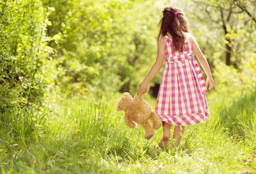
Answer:
[[[210,119],[186,126],[179,148],[165,150],[158,148],[161,129],[145,140],[143,128],[127,128],[124,113],[115,111],[121,95],[6,111],[0,118],[0,173],[256,173],[256,92],[239,100],[223,96],[229,100],[221,104],[217,94],[207,95]],[[155,99],[145,99],[154,108]]]

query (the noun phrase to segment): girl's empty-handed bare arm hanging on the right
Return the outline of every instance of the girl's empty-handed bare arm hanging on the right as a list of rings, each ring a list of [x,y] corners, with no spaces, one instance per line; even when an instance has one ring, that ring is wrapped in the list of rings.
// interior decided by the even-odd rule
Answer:
[[[206,78],[206,86],[209,86],[209,90],[211,90],[214,87],[214,81],[212,78],[212,73],[209,67],[209,64],[204,56],[204,54],[202,53],[201,49],[198,46],[198,43],[196,42],[195,38],[192,36],[192,34],[190,35],[190,37],[192,38],[193,41],[193,52],[195,53],[195,56],[198,58],[199,63],[201,64],[202,68],[204,69],[204,72],[207,76]]]

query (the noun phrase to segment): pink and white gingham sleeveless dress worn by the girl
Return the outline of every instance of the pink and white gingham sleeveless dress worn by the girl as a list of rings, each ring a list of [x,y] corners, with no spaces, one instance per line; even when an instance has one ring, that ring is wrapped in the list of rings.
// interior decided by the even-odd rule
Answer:
[[[200,66],[192,54],[193,42],[186,34],[187,51],[174,51],[172,39],[166,42],[165,67],[157,96],[158,117],[174,126],[204,123],[210,116],[206,100],[209,94]]]

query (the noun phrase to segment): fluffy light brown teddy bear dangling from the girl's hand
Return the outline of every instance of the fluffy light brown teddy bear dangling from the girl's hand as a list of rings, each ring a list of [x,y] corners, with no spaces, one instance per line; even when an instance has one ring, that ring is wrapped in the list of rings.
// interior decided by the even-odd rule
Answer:
[[[143,94],[131,97],[130,93],[125,92],[118,102],[116,111],[125,111],[125,123],[130,128],[136,128],[140,124],[145,129],[144,137],[149,140],[154,136],[154,129],[162,126],[162,121],[157,117],[157,113],[152,110],[151,105],[143,99]],[[152,121],[152,126],[148,122]],[[135,123],[134,123],[135,122]]]

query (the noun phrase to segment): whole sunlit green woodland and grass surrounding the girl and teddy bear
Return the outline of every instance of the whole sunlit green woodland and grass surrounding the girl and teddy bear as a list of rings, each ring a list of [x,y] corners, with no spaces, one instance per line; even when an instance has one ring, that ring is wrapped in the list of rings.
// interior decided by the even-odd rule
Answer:
[[[168,5],[183,9],[215,87],[212,121],[189,126],[179,151],[162,152],[161,130],[149,143],[114,109],[153,66]],[[0,0],[1,172],[256,172],[255,9],[255,0]],[[162,73],[144,94],[153,108]],[[212,165],[196,171],[199,149]],[[207,156],[215,150],[219,158]]]

